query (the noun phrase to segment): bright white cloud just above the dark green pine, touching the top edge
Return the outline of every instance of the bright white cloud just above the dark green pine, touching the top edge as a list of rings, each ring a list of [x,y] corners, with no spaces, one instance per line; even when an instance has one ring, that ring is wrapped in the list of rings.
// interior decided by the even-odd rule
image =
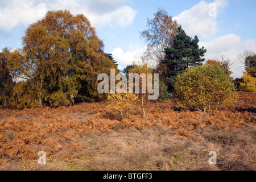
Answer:
[[[216,0],[211,4],[200,1],[191,9],[175,16],[174,19],[181,24],[189,36],[198,35],[203,39],[213,38],[218,31],[218,27],[216,16],[210,16],[210,13],[216,13],[218,16],[222,12],[221,9],[224,9],[226,6],[228,6],[228,1],[226,0]],[[216,9],[214,9],[215,7]]]

